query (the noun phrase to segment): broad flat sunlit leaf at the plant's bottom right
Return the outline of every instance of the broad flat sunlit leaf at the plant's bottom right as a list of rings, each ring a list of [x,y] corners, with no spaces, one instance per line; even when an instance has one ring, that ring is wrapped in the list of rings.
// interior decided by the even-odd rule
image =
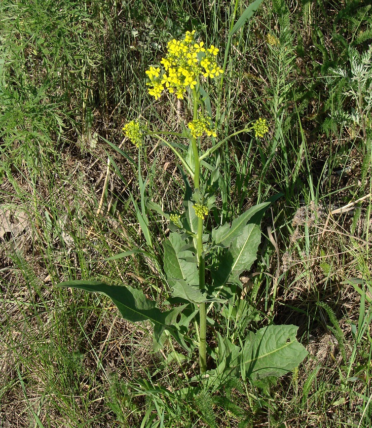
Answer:
[[[297,330],[296,325],[269,325],[250,332],[242,352],[245,377],[280,377],[297,367],[308,354],[296,339]]]

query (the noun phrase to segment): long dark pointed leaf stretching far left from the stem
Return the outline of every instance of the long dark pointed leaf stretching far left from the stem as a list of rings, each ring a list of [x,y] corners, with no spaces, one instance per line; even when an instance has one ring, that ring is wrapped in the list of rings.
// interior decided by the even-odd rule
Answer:
[[[176,318],[184,306],[170,311],[160,311],[153,300],[149,300],[141,290],[130,286],[107,285],[99,281],[65,281],[58,287],[72,287],[98,292],[110,297],[125,320],[131,322],[151,321],[154,325],[154,349],[160,349],[169,331],[186,350],[188,347],[176,328]]]

